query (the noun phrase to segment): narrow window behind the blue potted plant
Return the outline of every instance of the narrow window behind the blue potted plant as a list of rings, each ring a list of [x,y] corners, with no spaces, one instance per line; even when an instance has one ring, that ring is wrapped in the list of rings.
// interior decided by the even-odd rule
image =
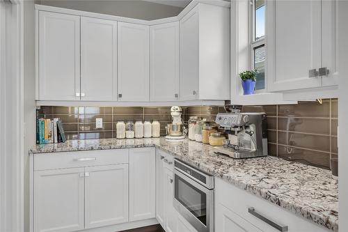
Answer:
[[[264,47],[265,0],[251,0],[251,67],[258,70],[255,90],[264,89],[264,64],[266,48]]]

